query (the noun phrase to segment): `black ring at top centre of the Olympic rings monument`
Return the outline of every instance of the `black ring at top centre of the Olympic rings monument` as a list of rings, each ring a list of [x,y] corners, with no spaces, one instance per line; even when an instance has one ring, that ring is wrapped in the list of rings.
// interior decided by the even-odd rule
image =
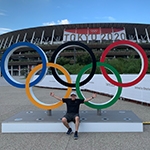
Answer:
[[[92,70],[91,70],[91,73],[89,74],[89,76],[83,80],[82,82],[80,82],[80,86],[82,85],[85,85],[86,83],[88,83],[92,77],[94,76],[95,74],[95,71],[96,71],[96,58],[95,58],[95,55],[94,53],[92,52],[92,50],[85,44],[81,43],[81,42],[78,42],[78,41],[69,41],[69,42],[66,42],[62,45],[60,45],[56,50],[55,52],[53,53],[52,57],[51,57],[51,62],[52,63],[56,63],[56,59],[58,57],[58,55],[60,54],[61,51],[63,51],[65,48],[68,48],[68,47],[72,47],[72,46],[76,46],[76,47],[81,47],[83,48],[84,50],[88,51],[91,58],[92,58]],[[64,86],[68,86],[68,87],[75,87],[75,83],[67,83],[65,81],[63,81],[59,75],[56,73],[56,69],[55,68],[51,68],[52,70],[52,74],[53,76],[55,77],[55,79],[61,83],[62,85]]]

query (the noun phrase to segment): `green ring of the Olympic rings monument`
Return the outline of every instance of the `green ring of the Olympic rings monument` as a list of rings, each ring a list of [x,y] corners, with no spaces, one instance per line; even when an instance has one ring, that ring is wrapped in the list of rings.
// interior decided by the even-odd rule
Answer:
[[[122,80],[121,80],[121,77],[120,77],[120,74],[117,72],[117,70],[110,66],[109,64],[106,64],[106,63],[102,63],[102,62],[97,62],[96,63],[97,67],[100,67],[100,66],[104,66],[106,67],[107,69],[109,69],[113,74],[116,75],[116,78],[118,80],[119,83],[122,83]],[[89,65],[86,65],[78,74],[77,76],[77,79],[76,79],[76,92],[78,94],[78,97],[80,99],[84,99],[84,96],[81,94],[81,90],[80,90],[80,86],[79,86],[79,83],[80,83],[80,79],[81,79],[81,76],[89,69],[92,67],[92,64],[89,64]],[[118,90],[116,92],[116,95],[113,96],[108,102],[105,102],[105,103],[101,103],[101,104],[96,104],[96,103],[93,103],[93,102],[85,102],[85,105],[91,107],[91,108],[94,108],[94,109],[104,109],[104,108],[107,108],[107,107],[110,107],[112,106],[120,97],[121,95],[121,92],[122,92],[122,87],[119,87],[118,86]]]

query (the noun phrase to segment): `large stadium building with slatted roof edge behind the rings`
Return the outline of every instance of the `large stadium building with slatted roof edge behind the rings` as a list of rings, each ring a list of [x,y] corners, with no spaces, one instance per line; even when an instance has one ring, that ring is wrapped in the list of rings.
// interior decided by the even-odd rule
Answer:
[[[0,59],[4,51],[17,42],[30,42],[41,47],[47,57],[51,58],[55,49],[67,41],[80,41],[88,45],[94,53],[101,55],[103,50],[112,42],[130,40],[138,43],[150,57],[150,24],[132,23],[86,23],[42,26],[12,31],[0,35]],[[124,50],[119,50],[122,48]],[[119,47],[109,52],[108,57],[128,57],[139,54],[131,51],[130,47]],[[74,61],[75,55],[84,52],[64,51],[60,56],[70,57]],[[11,75],[24,75],[32,67],[41,63],[41,58],[33,49],[26,47],[17,49],[9,59]]]

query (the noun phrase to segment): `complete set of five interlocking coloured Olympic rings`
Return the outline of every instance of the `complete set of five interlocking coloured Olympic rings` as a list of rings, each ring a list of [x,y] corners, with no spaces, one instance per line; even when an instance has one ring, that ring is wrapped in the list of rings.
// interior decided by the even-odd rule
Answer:
[[[132,47],[134,50],[137,51],[137,53],[140,55],[140,58],[141,58],[142,65],[141,65],[141,70],[140,70],[139,75],[137,76],[137,78],[135,80],[128,82],[128,83],[122,83],[122,79],[120,77],[120,74],[117,72],[117,70],[114,67],[112,67],[111,65],[106,64],[104,62],[107,53],[114,47],[117,47],[120,45]],[[63,68],[62,66],[56,64],[56,60],[57,60],[57,57],[60,54],[60,52],[62,52],[64,49],[72,47],[72,46],[79,47],[79,48],[86,50],[90,54],[91,59],[92,59],[92,63],[84,66],[83,69],[78,73],[75,83],[71,82],[71,77],[70,77],[69,73],[67,72],[67,70],[65,68]],[[37,65],[29,72],[29,74],[26,78],[25,84],[15,81],[11,77],[9,70],[8,70],[8,62],[9,62],[10,56],[13,54],[13,52],[15,50],[22,48],[22,47],[30,47],[30,48],[34,49],[35,51],[37,51],[39,53],[39,55],[42,59],[42,64]],[[45,103],[41,102],[40,100],[38,100],[32,91],[32,87],[34,85],[36,85],[37,83],[39,83],[44,78],[48,67],[51,68],[52,74],[55,77],[55,79],[62,85],[68,87],[64,98],[69,97],[69,95],[72,91],[72,87],[75,87],[77,95],[81,99],[83,99],[84,96],[81,92],[80,86],[83,86],[86,83],[88,83],[94,76],[96,67],[100,67],[101,72],[102,72],[103,76],[106,78],[106,80],[109,81],[111,84],[118,86],[117,92],[108,102],[97,104],[97,103],[89,101],[89,102],[86,102],[85,104],[94,109],[104,109],[104,108],[110,107],[119,99],[121,92],[122,92],[122,87],[133,86],[143,79],[143,77],[145,76],[147,69],[148,69],[148,58],[147,58],[144,50],[142,49],[142,47],[140,47],[138,44],[131,42],[131,41],[127,41],[127,40],[122,40],[122,41],[117,41],[117,42],[110,44],[102,53],[102,56],[100,57],[100,62],[96,62],[94,53],[87,45],[85,45],[81,42],[77,42],[77,41],[66,42],[66,43],[60,45],[53,53],[53,55],[51,57],[51,62],[48,62],[48,59],[47,59],[44,51],[41,48],[39,48],[38,46],[36,46],[34,44],[28,43],[28,42],[19,42],[19,43],[11,45],[3,54],[2,60],[1,60],[1,70],[2,70],[2,74],[3,74],[3,77],[5,78],[5,80],[12,86],[15,86],[17,88],[25,88],[26,95],[29,98],[29,100],[38,108],[46,109],[46,110],[56,109],[63,104],[63,102],[57,102],[54,104],[45,104]],[[91,72],[88,75],[88,77],[85,80],[83,80],[82,82],[80,82],[82,75],[90,68],[91,68]],[[108,76],[105,68],[110,70],[116,76],[117,81],[114,81],[113,79],[111,79]],[[65,75],[67,82],[63,81],[59,77],[56,69],[60,70]],[[32,81],[33,76],[39,70],[41,70],[40,75],[34,81]]]

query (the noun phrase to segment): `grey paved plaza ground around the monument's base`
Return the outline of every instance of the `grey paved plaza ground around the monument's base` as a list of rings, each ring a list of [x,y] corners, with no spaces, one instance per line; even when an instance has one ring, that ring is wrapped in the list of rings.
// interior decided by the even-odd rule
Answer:
[[[18,81],[25,82],[23,77],[14,78]],[[50,91],[53,91],[56,95],[61,97],[65,93],[65,90],[59,89],[33,88],[33,92],[38,99],[46,103],[54,103],[56,100],[49,96]],[[84,95],[85,97],[89,97],[91,96],[91,93],[84,91]],[[109,97],[98,95],[93,101],[101,102],[109,99]],[[65,105],[57,108],[57,110],[65,109]],[[16,113],[30,110],[39,110],[39,108],[35,107],[28,100],[25,89],[15,88],[9,85],[3,77],[0,77],[0,123]],[[82,105],[81,110],[92,109]],[[143,122],[150,122],[149,106],[118,100],[113,106],[107,108],[107,110],[130,110],[133,111]],[[139,133],[79,133],[78,140],[74,140],[73,134],[67,136],[65,132],[0,132],[0,150],[149,150],[150,125],[143,125],[143,128],[144,131]]]

